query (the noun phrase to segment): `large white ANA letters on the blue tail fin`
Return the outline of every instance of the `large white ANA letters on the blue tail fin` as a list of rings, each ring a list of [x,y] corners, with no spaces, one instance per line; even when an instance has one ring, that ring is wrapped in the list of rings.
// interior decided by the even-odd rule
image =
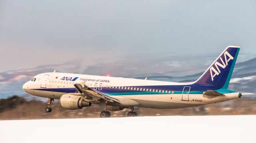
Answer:
[[[228,56],[228,59],[227,59],[227,56]],[[219,69],[219,67],[221,67],[222,69],[225,69],[226,66],[228,65],[228,61],[234,59],[234,57],[232,57],[232,56],[228,53],[228,51],[225,51],[225,52],[224,52],[224,57],[225,57],[225,62],[224,62],[224,61],[222,60],[222,58],[220,57],[220,61],[222,62],[222,64],[219,63],[218,61],[216,61],[216,62],[214,63],[214,65],[215,65],[215,67],[216,67],[217,70],[216,70],[213,66],[210,68],[210,73],[211,73],[212,81],[214,80],[214,79],[213,79],[214,76],[220,74],[220,69]],[[218,66],[219,66],[219,67],[218,67]],[[214,74],[212,74],[212,72],[214,72]]]

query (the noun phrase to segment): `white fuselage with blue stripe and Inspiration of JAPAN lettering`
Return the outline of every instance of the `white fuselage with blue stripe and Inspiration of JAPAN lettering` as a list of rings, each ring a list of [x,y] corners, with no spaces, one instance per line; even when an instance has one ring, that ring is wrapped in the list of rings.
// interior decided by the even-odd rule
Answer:
[[[238,92],[228,92],[232,90],[225,90],[224,96],[204,95],[203,92],[206,90],[194,91],[193,88],[197,87],[188,83],[59,72],[38,74],[33,81],[26,82],[23,89],[34,96],[60,99],[63,94],[76,92],[74,84],[83,81],[86,81],[85,84],[94,90],[120,100],[121,104],[118,105],[107,103],[113,106],[172,109],[238,98]]]

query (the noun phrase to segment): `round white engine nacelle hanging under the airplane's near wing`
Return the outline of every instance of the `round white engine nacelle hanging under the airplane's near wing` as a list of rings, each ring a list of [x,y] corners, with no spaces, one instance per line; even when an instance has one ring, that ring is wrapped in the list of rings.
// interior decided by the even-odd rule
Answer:
[[[83,107],[91,106],[91,102],[86,102],[82,97],[72,95],[72,94],[63,94],[60,96],[60,105],[65,109],[81,109]]]

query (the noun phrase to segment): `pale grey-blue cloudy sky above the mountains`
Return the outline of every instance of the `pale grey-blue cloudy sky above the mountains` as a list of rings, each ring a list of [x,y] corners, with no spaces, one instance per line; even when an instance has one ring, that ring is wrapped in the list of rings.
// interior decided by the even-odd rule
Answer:
[[[0,0],[0,72],[228,45],[256,53],[255,0]]]

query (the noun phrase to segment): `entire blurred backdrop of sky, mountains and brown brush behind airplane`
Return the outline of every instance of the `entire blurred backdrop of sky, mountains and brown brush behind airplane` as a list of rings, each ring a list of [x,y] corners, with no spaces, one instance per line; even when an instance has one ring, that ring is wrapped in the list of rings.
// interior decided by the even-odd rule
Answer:
[[[42,72],[190,82],[228,46],[242,46],[229,88],[243,98],[140,116],[256,112],[256,1],[0,0],[0,119],[91,118],[100,108],[62,109],[22,85]],[[126,116],[127,111],[112,115]]]

